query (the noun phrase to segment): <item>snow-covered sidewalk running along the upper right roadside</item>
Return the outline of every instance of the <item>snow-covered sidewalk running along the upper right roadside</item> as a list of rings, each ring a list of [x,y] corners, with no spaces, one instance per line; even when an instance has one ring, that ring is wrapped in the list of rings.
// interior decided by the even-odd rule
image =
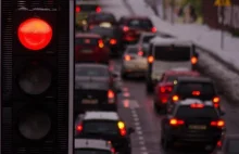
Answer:
[[[154,14],[150,5],[143,0],[127,0],[134,12],[138,15],[150,16],[159,31],[169,34],[177,38],[190,39],[194,44],[206,49],[219,56],[223,61],[239,70],[239,38],[230,34],[224,35],[224,50],[221,49],[221,31],[210,29],[207,26],[196,24],[174,24],[164,22]]]

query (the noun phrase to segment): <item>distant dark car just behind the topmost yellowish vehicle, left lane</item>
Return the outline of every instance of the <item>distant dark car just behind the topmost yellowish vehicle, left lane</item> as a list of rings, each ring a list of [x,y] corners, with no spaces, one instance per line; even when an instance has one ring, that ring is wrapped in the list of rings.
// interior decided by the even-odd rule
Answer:
[[[109,23],[111,26],[117,26],[117,20],[113,13],[110,12],[93,12],[87,17],[87,29],[91,29],[93,26],[99,26],[102,23]]]

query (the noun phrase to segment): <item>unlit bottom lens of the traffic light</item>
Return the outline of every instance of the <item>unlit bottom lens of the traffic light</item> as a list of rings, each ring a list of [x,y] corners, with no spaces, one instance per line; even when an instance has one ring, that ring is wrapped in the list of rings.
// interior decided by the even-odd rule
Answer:
[[[18,131],[28,140],[41,140],[51,130],[51,119],[42,112],[25,113],[20,117]]]

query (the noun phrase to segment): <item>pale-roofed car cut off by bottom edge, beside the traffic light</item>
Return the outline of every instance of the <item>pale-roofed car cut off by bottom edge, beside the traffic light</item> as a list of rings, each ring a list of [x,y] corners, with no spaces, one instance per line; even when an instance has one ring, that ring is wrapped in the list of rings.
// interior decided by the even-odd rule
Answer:
[[[74,154],[115,154],[115,150],[110,141],[75,139]]]

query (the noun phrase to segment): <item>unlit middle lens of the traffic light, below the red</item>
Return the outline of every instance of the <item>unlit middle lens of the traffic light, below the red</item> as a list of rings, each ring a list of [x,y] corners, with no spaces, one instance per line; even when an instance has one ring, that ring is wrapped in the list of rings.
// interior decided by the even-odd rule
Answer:
[[[51,86],[52,74],[49,69],[34,65],[25,68],[18,77],[20,88],[27,94],[41,94]]]

